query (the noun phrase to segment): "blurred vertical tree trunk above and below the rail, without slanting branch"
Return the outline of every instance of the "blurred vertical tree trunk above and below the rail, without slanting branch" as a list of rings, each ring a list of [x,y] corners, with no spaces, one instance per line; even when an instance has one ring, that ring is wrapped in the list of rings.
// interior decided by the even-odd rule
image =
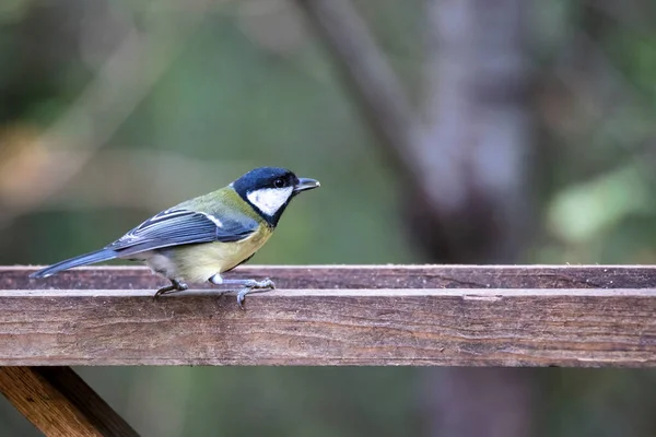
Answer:
[[[433,191],[409,204],[410,233],[432,261],[517,262],[531,215],[525,2],[433,0],[427,8],[430,126],[418,154]],[[426,370],[426,434],[531,435],[534,375]]]

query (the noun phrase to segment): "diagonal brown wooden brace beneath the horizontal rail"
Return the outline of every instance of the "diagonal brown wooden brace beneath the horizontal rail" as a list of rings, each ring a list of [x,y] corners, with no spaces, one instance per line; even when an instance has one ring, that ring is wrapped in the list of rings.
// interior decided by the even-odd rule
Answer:
[[[0,391],[47,436],[138,436],[69,367],[0,367]]]

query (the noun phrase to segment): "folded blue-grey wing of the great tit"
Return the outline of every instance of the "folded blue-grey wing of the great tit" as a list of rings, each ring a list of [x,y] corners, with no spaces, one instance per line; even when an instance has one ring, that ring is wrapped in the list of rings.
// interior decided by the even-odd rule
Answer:
[[[163,247],[211,241],[237,241],[257,229],[248,216],[216,217],[202,212],[171,209],[147,220],[106,246],[119,257]]]

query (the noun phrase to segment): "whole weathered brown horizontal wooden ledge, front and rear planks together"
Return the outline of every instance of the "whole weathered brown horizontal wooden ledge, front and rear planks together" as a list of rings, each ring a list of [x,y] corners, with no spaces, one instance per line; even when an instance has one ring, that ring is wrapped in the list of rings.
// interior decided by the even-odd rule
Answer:
[[[0,273],[0,365],[656,366],[653,268],[251,267],[286,290],[246,311],[153,300],[144,269],[28,271]]]

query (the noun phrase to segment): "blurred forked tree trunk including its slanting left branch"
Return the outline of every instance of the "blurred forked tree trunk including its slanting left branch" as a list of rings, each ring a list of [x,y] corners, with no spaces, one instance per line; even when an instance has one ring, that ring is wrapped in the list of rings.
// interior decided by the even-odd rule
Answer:
[[[426,3],[427,123],[349,0],[297,0],[407,182],[408,232],[432,262],[512,263],[531,218],[530,107],[520,0]],[[427,434],[530,435],[532,373],[432,369]]]

